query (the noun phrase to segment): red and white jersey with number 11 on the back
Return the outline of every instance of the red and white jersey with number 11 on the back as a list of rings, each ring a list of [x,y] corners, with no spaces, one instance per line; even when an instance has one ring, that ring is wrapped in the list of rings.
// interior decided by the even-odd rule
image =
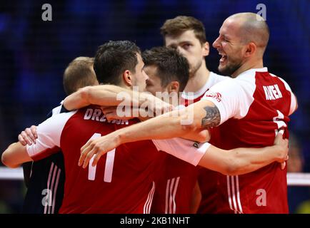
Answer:
[[[96,167],[78,166],[80,149],[87,141],[138,122],[107,121],[100,108],[90,106],[54,115],[38,126],[36,144],[27,146],[29,155],[39,160],[59,147],[64,153],[66,181],[59,213],[150,212],[158,156],[151,140],[120,145],[102,156]]]

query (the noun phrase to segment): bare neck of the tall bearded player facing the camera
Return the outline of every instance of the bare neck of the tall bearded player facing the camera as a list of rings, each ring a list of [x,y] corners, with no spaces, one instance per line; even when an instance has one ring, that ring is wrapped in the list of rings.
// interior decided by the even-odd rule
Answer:
[[[209,79],[210,71],[206,68],[206,61],[201,63],[201,67],[196,71],[194,76],[189,78],[189,82],[186,84],[184,92],[196,92],[200,90]]]

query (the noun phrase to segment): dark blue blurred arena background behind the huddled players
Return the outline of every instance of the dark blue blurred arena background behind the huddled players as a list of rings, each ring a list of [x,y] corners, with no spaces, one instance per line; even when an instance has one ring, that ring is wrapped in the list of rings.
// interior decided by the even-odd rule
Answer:
[[[41,19],[45,3],[52,6],[52,21]],[[203,21],[212,43],[227,16],[257,13],[257,4],[266,5],[271,31],[264,64],[289,83],[299,100],[289,128],[299,142],[301,171],[310,172],[309,0],[1,0],[0,151],[16,141],[21,130],[41,123],[64,98],[63,71],[77,56],[94,56],[96,48],[109,40],[135,41],[142,50],[161,46],[160,26],[178,15]],[[206,63],[217,73],[219,55],[214,48]],[[15,192],[6,191],[13,188]],[[0,212],[19,212],[23,192],[23,183],[0,180]],[[291,211],[309,199],[309,188],[301,192],[293,194],[297,199],[292,199]]]

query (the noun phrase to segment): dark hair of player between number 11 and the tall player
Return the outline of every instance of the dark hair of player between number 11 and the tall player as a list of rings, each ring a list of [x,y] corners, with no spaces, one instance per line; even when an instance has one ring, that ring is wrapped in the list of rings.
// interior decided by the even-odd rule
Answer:
[[[142,53],[144,66],[156,66],[161,86],[178,81],[182,92],[189,81],[189,62],[181,54],[168,47],[155,47]]]

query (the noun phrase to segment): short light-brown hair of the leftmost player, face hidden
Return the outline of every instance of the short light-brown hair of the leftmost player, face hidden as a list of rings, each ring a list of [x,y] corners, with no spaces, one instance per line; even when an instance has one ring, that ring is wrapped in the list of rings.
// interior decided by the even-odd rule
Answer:
[[[74,58],[64,71],[64,91],[66,95],[74,93],[79,88],[94,86],[96,75],[93,71],[94,58]]]

